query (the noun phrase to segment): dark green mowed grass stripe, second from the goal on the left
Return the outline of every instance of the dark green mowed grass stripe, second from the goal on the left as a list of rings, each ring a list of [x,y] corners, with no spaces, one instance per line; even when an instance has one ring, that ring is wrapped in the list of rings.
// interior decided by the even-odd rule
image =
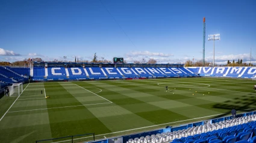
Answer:
[[[55,87],[56,90],[52,87]],[[50,96],[46,100],[48,108],[78,105],[72,108],[48,109],[53,138],[85,133],[102,134],[111,132],[85,106],[81,106],[82,103],[57,82],[45,83],[45,90],[46,94]]]

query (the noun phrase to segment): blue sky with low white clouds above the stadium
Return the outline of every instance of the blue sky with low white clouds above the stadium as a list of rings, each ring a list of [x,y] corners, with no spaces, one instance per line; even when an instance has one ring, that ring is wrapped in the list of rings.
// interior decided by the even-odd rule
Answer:
[[[102,3],[101,3],[102,2]],[[104,5],[102,5],[104,4]],[[40,57],[158,63],[202,59],[219,64],[243,59],[256,64],[256,1],[0,1],[0,61]],[[109,11],[109,13],[108,13]]]

